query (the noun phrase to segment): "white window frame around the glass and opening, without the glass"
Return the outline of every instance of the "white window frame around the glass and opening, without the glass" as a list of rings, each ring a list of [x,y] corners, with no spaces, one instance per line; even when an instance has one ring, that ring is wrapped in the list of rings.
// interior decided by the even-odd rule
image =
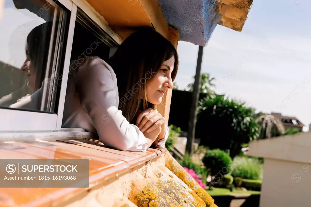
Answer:
[[[65,59],[63,65],[63,77],[69,72],[70,65],[70,57],[72,50],[72,41],[74,28],[77,17],[77,7],[86,13],[102,30],[104,30],[114,41],[118,44],[121,44],[121,38],[113,32],[113,30],[109,27],[108,23],[104,20],[104,17],[99,15],[98,12],[91,7],[84,0],[58,0],[64,7],[71,11],[70,21],[69,21],[69,29],[67,36],[67,45],[65,49]],[[65,37],[66,38],[66,37]],[[6,135],[11,132],[19,132],[20,136],[25,136],[25,132],[27,135],[35,135],[39,133],[39,136],[48,133],[62,133],[64,136],[66,133],[74,132],[75,135],[83,134],[86,135],[88,132],[83,132],[85,130],[82,129],[69,129],[62,128],[62,120],[63,120],[63,110],[65,104],[65,96],[67,89],[67,78],[62,79],[61,89],[60,89],[60,97],[58,102],[58,112],[57,114],[44,113],[44,112],[30,112],[30,111],[22,111],[16,109],[0,109],[0,140],[2,135]],[[65,134],[64,134],[65,133]],[[70,135],[70,133],[68,134]]]

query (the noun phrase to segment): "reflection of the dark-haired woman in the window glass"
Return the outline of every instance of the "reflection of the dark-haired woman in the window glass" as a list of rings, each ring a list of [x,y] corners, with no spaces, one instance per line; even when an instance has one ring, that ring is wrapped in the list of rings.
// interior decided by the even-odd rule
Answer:
[[[46,56],[49,49],[49,40],[51,35],[52,23],[46,22],[35,27],[27,36],[26,40],[26,59],[21,66],[21,71],[27,75],[26,84],[28,91],[37,91],[40,88],[41,80],[44,78],[46,68]],[[22,88],[25,88],[23,86]],[[16,92],[9,94],[0,99],[0,106],[10,106],[21,99],[30,96],[30,94],[24,94],[22,91],[25,89],[19,89]]]

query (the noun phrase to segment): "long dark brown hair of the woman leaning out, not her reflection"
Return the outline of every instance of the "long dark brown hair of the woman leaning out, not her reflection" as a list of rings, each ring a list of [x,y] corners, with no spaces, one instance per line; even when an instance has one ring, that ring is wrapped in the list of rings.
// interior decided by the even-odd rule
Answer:
[[[109,60],[117,76],[119,110],[132,122],[139,106],[147,108],[146,83],[154,78],[164,61],[174,57],[174,81],[179,58],[173,44],[153,28],[142,28],[131,34]],[[142,102],[142,103],[141,103]],[[148,104],[155,109],[155,104]]]

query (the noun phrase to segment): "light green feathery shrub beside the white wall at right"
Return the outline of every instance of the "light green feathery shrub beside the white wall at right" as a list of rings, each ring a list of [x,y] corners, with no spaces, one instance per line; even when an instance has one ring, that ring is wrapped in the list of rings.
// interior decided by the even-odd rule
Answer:
[[[231,175],[244,179],[261,180],[262,164],[258,159],[247,157],[234,158]]]

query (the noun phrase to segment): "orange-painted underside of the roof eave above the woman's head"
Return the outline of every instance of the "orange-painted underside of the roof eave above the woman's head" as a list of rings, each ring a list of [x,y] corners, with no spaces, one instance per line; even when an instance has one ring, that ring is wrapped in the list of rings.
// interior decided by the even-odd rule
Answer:
[[[86,0],[122,40],[139,27],[154,27],[163,36],[168,24],[157,0]],[[165,36],[166,37],[166,36]]]

